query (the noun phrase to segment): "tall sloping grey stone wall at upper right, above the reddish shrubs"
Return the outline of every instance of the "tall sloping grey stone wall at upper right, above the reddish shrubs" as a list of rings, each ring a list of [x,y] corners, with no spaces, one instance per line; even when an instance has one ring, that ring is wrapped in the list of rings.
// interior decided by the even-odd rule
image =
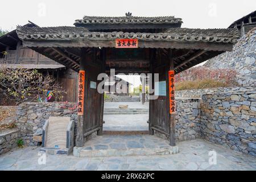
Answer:
[[[237,72],[241,86],[256,86],[256,28],[238,40],[233,51],[224,52],[204,64],[208,68],[228,68]]]

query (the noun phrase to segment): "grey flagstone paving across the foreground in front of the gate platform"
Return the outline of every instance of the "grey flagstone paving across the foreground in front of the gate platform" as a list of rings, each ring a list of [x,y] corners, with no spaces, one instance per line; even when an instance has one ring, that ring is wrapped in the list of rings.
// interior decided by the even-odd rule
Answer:
[[[39,165],[39,147],[26,147],[0,155],[0,170],[256,170],[256,158],[196,139],[178,143],[180,152],[163,156],[76,158],[47,156]],[[209,151],[216,151],[216,165]]]

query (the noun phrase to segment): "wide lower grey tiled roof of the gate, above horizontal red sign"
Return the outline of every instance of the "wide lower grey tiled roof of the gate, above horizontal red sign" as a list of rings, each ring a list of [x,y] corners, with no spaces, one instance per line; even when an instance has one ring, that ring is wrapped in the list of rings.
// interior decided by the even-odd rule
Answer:
[[[20,27],[17,34],[21,40],[113,40],[139,39],[172,42],[217,42],[234,43],[239,37],[236,28],[229,29],[191,29],[170,28],[164,33],[143,32],[89,32],[84,27]]]

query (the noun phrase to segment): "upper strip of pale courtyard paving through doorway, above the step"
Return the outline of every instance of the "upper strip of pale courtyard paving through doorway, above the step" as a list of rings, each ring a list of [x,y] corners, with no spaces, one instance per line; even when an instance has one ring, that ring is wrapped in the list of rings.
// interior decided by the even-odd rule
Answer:
[[[128,105],[130,109],[148,109],[149,102],[144,105],[141,102],[104,102],[104,108],[118,108],[119,105]]]

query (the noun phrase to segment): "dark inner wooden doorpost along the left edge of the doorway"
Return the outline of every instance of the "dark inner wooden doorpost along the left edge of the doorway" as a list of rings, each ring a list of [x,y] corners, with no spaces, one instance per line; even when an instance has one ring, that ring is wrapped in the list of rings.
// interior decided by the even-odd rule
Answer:
[[[101,72],[105,73],[106,71],[106,49],[102,48],[101,49]],[[104,86],[105,88],[105,86]],[[100,113],[100,130],[98,130],[98,135],[103,134],[103,115],[104,115],[104,93],[101,94],[101,113]]]

